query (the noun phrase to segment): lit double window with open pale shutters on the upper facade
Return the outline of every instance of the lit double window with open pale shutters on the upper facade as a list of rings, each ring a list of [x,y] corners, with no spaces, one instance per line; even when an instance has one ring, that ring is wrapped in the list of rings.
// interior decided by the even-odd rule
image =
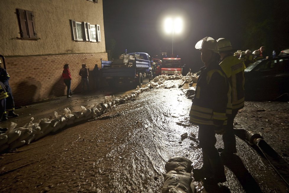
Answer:
[[[72,40],[100,42],[100,26],[71,20]]]

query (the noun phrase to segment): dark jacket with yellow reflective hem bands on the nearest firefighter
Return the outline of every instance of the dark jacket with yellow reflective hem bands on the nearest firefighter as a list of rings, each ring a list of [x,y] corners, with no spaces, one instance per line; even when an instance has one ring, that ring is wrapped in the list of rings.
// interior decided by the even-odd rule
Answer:
[[[232,113],[228,79],[217,64],[202,67],[190,110],[190,122],[196,125],[227,125]]]

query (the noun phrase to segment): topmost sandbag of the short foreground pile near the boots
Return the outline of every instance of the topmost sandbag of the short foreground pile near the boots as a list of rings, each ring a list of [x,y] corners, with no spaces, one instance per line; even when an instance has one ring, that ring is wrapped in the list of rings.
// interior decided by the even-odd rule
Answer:
[[[191,172],[193,162],[186,157],[176,156],[172,157],[165,163],[165,171],[175,170],[178,167],[184,167],[186,172]]]

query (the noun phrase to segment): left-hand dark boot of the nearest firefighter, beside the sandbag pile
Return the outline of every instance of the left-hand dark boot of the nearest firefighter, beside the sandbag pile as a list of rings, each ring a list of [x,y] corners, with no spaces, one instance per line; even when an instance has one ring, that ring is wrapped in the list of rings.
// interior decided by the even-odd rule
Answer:
[[[212,175],[212,168],[209,157],[203,152],[203,167],[200,169],[193,169],[193,176],[195,181],[201,181],[204,178],[209,178]]]

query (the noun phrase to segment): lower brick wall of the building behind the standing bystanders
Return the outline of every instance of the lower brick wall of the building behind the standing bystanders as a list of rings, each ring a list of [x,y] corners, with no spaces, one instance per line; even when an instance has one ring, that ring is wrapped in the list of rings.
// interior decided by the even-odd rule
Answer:
[[[84,63],[91,72],[89,80],[92,88],[92,70],[95,64],[101,68],[100,58],[107,60],[107,53],[6,57],[15,105],[26,105],[66,95],[66,85],[62,78],[63,66],[66,63],[69,64],[72,76],[73,92],[81,91],[81,77],[78,73]]]

